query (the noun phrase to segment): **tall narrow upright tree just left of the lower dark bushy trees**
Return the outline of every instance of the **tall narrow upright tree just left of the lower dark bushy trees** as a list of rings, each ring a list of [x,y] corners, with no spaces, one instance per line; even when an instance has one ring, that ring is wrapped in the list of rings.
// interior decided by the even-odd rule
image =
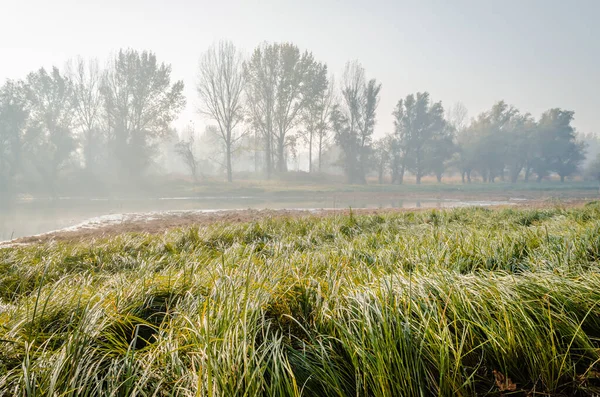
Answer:
[[[342,81],[341,102],[331,113],[336,143],[342,149],[341,162],[349,183],[366,183],[366,168],[375,128],[381,84],[368,82],[357,62],[346,63]]]

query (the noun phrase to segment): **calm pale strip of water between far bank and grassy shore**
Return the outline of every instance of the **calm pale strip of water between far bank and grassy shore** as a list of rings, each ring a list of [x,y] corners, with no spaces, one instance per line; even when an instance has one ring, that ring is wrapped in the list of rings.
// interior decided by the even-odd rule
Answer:
[[[31,236],[77,225],[87,219],[123,213],[207,209],[329,209],[329,208],[447,208],[492,205],[506,202],[454,200],[378,200],[340,197],[280,198],[258,197],[173,197],[160,199],[77,199],[21,200],[0,209],[0,241]]]

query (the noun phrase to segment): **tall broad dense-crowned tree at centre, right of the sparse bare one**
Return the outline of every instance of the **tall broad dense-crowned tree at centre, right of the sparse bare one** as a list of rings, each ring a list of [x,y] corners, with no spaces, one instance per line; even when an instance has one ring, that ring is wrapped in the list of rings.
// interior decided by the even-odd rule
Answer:
[[[287,170],[286,149],[294,143],[288,134],[305,107],[310,79],[322,68],[311,53],[291,43],[263,44],[245,64],[248,104],[253,127],[263,135],[267,177],[274,160],[277,171]]]

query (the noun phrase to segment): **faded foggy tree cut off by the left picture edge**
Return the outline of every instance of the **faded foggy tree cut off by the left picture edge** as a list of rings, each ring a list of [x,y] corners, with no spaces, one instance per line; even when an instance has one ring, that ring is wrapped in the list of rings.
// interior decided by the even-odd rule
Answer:
[[[0,87],[0,199],[14,193],[15,177],[22,171],[28,117],[23,82],[8,80]]]

